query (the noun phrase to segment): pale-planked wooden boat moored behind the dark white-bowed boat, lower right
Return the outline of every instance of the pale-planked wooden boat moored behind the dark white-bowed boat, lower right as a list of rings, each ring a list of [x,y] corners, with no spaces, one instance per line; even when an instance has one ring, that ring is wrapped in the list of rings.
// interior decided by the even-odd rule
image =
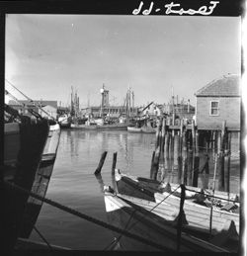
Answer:
[[[174,220],[180,211],[181,198],[177,192],[177,196],[173,195],[176,189],[168,192],[155,190],[154,186],[148,187],[145,180],[145,186],[138,179],[124,175],[116,170],[116,183],[118,192],[124,194],[122,198],[136,204],[152,213],[158,214],[164,219]],[[177,188],[179,186],[177,185]],[[125,196],[127,195],[127,196]],[[198,200],[200,204],[198,204]],[[228,212],[226,206],[220,208],[216,206],[207,207],[205,195],[194,193],[187,195],[184,202],[184,216],[186,228],[191,233],[196,233],[201,237],[215,237],[212,242],[223,246],[227,243],[230,250],[236,251],[239,242],[239,213]],[[207,200],[208,201],[208,200]],[[211,198],[209,203],[212,202]],[[238,208],[235,204],[231,204],[231,209]],[[220,237],[220,239],[218,238]],[[218,242],[220,240],[220,244]]]

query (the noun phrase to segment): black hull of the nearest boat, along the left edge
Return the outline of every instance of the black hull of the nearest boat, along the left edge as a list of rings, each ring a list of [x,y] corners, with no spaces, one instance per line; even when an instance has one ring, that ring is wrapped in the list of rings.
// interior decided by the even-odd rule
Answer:
[[[19,144],[20,147],[16,162],[14,159],[12,159],[11,164],[8,161],[4,162],[4,180],[6,182],[31,191],[41,162],[41,154],[47,135],[47,121],[41,121],[38,124],[31,124],[30,121],[26,121],[20,124],[20,140],[16,141],[16,144]],[[8,152],[13,148],[14,144],[8,141],[5,142],[4,152]],[[7,156],[7,153],[4,155]],[[4,186],[4,227],[7,230],[5,233],[4,250],[11,251],[17,241],[29,195],[13,190],[8,184]]]

